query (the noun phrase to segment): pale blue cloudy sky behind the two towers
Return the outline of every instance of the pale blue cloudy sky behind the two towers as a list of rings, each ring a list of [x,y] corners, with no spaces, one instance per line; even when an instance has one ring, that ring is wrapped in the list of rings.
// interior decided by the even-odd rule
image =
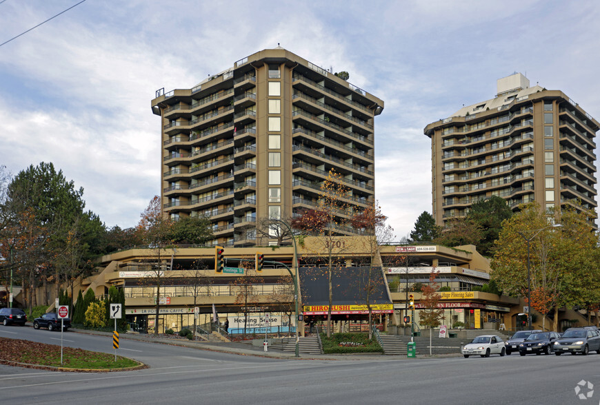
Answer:
[[[81,0],[0,0],[0,43]],[[52,162],[108,227],[160,194],[161,87],[283,48],[383,99],[376,198],[397,239],[431,212],[423,128],[513,72],[600,118],[600,2],[87,0],[0,46],[0,165]]]

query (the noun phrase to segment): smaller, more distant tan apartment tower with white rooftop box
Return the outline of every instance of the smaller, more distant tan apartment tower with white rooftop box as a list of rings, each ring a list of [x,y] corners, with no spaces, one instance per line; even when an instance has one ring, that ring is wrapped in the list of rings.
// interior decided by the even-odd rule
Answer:
[[[491,196],[543,209],[579,200],[595,209],[600,124],[559,90],[530,87],[520,73],[497,96],[426,126],[431,138],[433,216],[439,225]]]

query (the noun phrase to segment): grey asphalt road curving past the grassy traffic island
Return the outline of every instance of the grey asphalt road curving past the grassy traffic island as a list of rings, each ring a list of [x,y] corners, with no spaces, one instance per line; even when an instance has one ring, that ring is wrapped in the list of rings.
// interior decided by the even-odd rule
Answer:
[[[54,342],[60,333],[0,326],[0,336]],[[65,333],[64,344],[112,353],[110,337]],[[71,342],[67,342],[71,341]],[[58,344],[60,342],[58,341]],[[109,346],[110,347],[110,346]],[[598,404],[600,355],[381,360],[274,360],[121,340],[150,368],[57,373],[0,366],[2,404]],[[119,349],[121,350],[121,349]],[[360,359],[360,357],[357,357]],[[581,400],[580,381],[594,385]],[[579,389],[590,393],[588,384]]]

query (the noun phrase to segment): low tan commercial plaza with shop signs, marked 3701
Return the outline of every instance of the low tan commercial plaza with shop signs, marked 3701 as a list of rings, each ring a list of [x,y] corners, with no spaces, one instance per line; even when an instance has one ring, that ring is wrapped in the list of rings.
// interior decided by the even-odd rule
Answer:
[[[332,319],[336,331],[361,330],[366,324],[368,311],[365,300],[356,298],[353,302],[341,295],[358,293],[361,272],[370,267],[379,256],[383,264],[374,274],[386,276],[377,285],[381,296],[374,309],[377,324],[382,328],[400,325],[406,315],[408,291],[418,289],[428,282],[432,271],[439,272],[437,282],[446,290],[441,293],[441,307],[444,309],[444,324],[452,327],[462,322],[470,329],[490,328],[505,324],[507,329],[517,326],[517,313],[521,312],[519,300],[477,290],[489,281],[489,262],[473,246],[448,248],[441,246],[381,246],[373,255],[368,243],[361,237],[339,237],[340,246],[334,253],[334,277],[352,278],[352,282],[334,282]],[[293,247],[259,249],[265,254],[266,266],[261,273],[254,271],[255,247],[229,247],[225,258],[231,266],[243,268],[243,272],[215,273],[214,248],[163,249],[161,258],[157,249],[130,249],[104,256],[99,263],[99,271],[83,280],[82,288],[90,288],[96,295],[103,295],[111,285],[123,288],[126,295],[126,316],[134,329],[152,331],[158,328],[175,331],[194,324],[194,307],[199,308],[199,324],[209,324],[212,319],[212,305],[217,310],[220,322],[229,320],[230,331],[240,332],[248,322],[248,333],[264,333],[266,315],[272,320],[270,331],[286,333],[296,326],[294,317],[294,289],[287,267],[295,275]],[[319,301],[318,288],[314,282],[323,275],[323,258],[327,249],[319,238],[307,237],[297,247],[299,260],[299,300],[304,322],[325,323],[328,300]],[[233,259],[243,259],[242,264]],[[379,261],[379,259],[375,259]],[[277,263],[275,263],[277,262]],[[171,264],[172,263],[172,264]],[[159,324],[154,324],[156,314],[157,271],[161,269]],[[244,278],[250,284],[244,283]],[[420,284],[419,284],[420,283]],[[326,283],[321,283],[326,286]],[[417,286],[415,286],[417,284]],[[323,291],[321,291],[321,296]],[[341,293],[341,295],[340,295]],[[421,293],[411,292],[417,301],[414,320],[419,321],[422,309]],[[573,317],[574,315],[569,315]],[[302,323],[300,330],[303,331]],[[308,330],[308,329],[307,329]]]

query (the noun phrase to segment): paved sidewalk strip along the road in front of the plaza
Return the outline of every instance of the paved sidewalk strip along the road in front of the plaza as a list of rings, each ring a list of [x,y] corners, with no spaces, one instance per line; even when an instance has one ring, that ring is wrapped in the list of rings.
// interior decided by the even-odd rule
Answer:
[[[112,336],[110,332],[88,331],[86,329],[69,329],[75,333],[88,333],[89,335]],[[251,355],[257,357],[269,357],[282,360],[413,360],[408,359],[405,355],[381,355],[373,353],[352,353],[352,354],[305,354],[299,353],[299,357],[294,357],[294,353],[270,349],[265,352],[262,346],[252,346],[250,343],[240,342],[201,342],[188,339],[170,339],[167,337],[154,337],[154,335],[137,335],[134,333],[120,333],[119,339],[123,340],[138,340],[140,342],[151,342],[159,344],[171,344],[173,346],[190,347],[192,349],[218,351],[221,353],[230,353],[237,355]],[[419,355],[418,358],[444,358],[444,357],[459,357],[460,353],[450,355]]]

